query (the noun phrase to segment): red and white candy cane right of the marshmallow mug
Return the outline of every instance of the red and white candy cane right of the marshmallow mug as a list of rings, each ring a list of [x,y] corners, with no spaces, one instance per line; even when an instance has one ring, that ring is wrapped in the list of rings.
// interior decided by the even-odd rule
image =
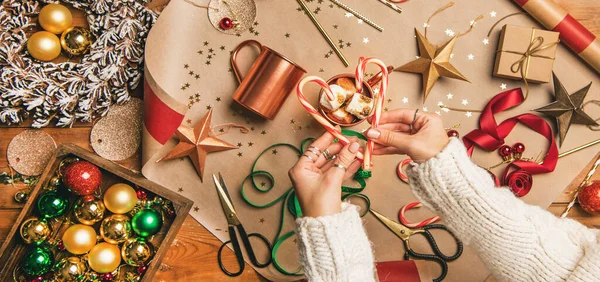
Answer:
[[[358,66],[356,67],[356,91],[358,93],[362,92],[363,80],[365,70],[367,68],[367,64],[373,63],[379,66],[381,69],[381,84],[379,84],[379,94],[374,95],[375,99],[375,112],[373,113],[373,118],[371,120],[371,127],[377,128],[379,126],[379,120],[381,119],[381,111],[383,110],[383,103],[385,101],[385,92],[387,90],[388,84],[388,70],[387,66],[379,59],[374,58],[363,58],[361,57],[358,61]],[[367,141],[367,150],[365,152],[365,159],[363,162],[363,170],[369,171],[371,170],[371,155],[373,154],[373,147],[375,143],[372,140]]]

